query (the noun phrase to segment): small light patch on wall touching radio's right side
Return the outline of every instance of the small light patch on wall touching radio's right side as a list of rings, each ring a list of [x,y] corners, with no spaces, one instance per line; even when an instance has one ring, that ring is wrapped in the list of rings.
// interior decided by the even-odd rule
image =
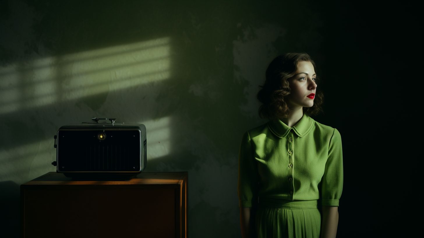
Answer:
[[[146,126],[147,163],[170,152],[170,116],[138,122]]]

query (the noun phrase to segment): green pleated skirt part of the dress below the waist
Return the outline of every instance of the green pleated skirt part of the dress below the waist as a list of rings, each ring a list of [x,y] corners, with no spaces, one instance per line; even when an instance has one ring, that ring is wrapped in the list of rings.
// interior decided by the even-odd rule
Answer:
[[[260,198],[255,225],[258,238],[319,238],[321,213],[317,200]]]

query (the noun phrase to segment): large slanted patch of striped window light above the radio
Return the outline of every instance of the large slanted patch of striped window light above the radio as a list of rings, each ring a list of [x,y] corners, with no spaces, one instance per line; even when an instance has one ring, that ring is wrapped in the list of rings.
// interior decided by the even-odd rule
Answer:
[[[169,37],[0,67],[0,114],[170,77]]]

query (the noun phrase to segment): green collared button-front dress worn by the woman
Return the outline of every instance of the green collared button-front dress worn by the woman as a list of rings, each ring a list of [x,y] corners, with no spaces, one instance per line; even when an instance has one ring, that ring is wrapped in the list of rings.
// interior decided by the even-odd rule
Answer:
[[[248,130],[240,145],[240,207],[255,207],[257,237],[318,238],[318,206],[339,206],[343,155],[337,129],[303,114]]]

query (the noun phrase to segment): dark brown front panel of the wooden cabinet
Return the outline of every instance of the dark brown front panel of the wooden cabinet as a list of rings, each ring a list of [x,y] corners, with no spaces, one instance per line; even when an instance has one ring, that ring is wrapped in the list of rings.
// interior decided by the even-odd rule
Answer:
[[[179,237],[178,191],[174,184],[25,187],[23,237]]]

